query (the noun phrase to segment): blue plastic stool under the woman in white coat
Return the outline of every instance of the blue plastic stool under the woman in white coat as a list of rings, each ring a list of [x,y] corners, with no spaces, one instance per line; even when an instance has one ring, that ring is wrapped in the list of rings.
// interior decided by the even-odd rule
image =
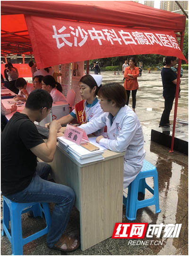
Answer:
[[[146,178],[154,177],[154,189],[146,184]],[[153,194],[152,198],[138,200],[138,192],[145,195],[145,189]],[[127,198],[123,196],[123,204],[126,206],[125,216],[129,220],[136,219],[137,210],[146,206],[155,205],[155,212],[160,212],[159,208],[159,190],[158,175],[156,167],[144,160],[142,170],[139,172],[135,180],[129,184]]]

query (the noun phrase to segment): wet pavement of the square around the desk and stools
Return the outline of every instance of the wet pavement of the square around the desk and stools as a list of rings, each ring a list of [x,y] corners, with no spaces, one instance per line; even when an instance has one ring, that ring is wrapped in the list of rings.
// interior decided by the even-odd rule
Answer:
[[[123,83],[123,75],[114,75],[113,72],[102,72],[103,83]],[[139,89],[137,91],[136,114],[142,124],[146,160],[156,166],[159,179],[159,202],[161,212],[155,214],[155,206],[149,206],[137,211],[137,219],[129,221],[125,217],[123,207],[122,222],[148,224],[182,224],[178,238],[144,238],[137,240],[149,241],[148,245],[128,245],[132,239],[108,238],[103,242],[81,251],[67,253],[68,255],[188,255],[188,156],[178,151],[169,152],[169,148],[151,141],[151,129],[157,129],[163,112],[164,101],[162,97],[162,82],[159,71],[142,73],[138,78]],[[188,71],[184,71],[181,78],[181,98],[178,103],[177,119],[188,121]],[[131,107],[130,96],[129,106]],[[173,108],[174,109],[174,108]],[[173,110],[170,115],[173,120]],[[188,125],[177,123],[176,133],[182,135],[188,141]],[[172,127],[172,126],[171,126]],[[148,178],[147,183],[152,184]],[[127,192],[127,191],[126,191]],[[146,197],[150,195],[147,193]],[[91,219],[91,221],[93,221]],[[23,236],[36,232],[45,226],[43,219],[29,218],[26,214],[22,216]],[[79,238],[79,212],[74,207],[66,233]],[[163,233],[162,233],[163,234]],[[46,236],[38,238],[24,246],[25,255],[62,255],[58,250],[49,249],[45,242]],[[158,241],[158,245],[154,242]],[[1,237],[1,255],[11,255],[11,246],[7,237]]]

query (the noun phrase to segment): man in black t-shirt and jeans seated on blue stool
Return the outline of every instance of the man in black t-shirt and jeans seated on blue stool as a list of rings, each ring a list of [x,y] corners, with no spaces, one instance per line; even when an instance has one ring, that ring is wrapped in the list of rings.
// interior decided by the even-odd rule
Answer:
[[[55,151],[60,124],[53,120],[49,138],[44,142],[34,121],[40,122],[52,108],[52,97],[44,90],[32,91],[25,109],[16,112],[1,134],[1,191],[15,202],[54,202],[47,245],[62,251],[79,246],[64,235],[75,201],[74,191],[62,184],[47,181]],[[37,162],[39,157],[44,162]]]

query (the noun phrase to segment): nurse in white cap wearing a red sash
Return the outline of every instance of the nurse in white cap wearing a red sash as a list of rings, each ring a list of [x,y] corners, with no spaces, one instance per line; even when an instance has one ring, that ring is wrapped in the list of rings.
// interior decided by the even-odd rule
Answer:
[[[61,125],[68,124],[73,119],[77,119],[79,125],[85,124],[103,113],[99,101],[96,98],[99,89],[102,87],[102,79],[102,75],[96,74],[87,74],[80,79],[79,87],[83,100],[75,105],[75,109],[69,115],[57,120]],[[46,127],[48,125],[46,124]],[[61,133],[64,131],[65,127],[61,128]],[[98,133],[102,133],[102,131],[99,130]]]

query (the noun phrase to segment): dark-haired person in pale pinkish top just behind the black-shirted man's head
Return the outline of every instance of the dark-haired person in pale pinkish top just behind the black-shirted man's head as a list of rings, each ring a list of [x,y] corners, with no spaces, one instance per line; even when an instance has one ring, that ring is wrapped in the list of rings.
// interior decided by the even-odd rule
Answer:
[[[56,82],[52,75],[45,75],[42,78],[42,89],[48,91],[51,94],[53,102],[63,101],[68,103],[62,94],[62,87],[60,83]]]

